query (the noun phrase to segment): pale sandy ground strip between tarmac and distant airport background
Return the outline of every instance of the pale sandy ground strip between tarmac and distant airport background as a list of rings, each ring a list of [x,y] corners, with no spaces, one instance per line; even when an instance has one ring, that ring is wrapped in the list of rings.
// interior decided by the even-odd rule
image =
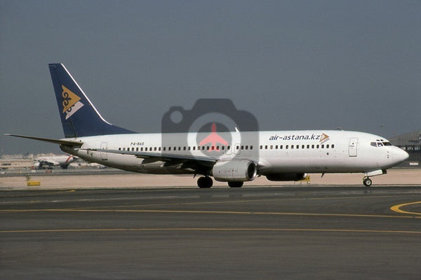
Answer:
[[[245,182],[244,186],[363,186],[363,174],[311,174],[307,182],[272,182],[265,177]],[[196,179],[185,175],[152,174],[89,174],[32,176],[32,181],[40,181],[41,186],[27,187],[25,176],[0,177],[0,190],[47,190],[73,188],[159,188],[159,187],[195,187]],[[372,177],[373,186],[420,186],[421,169],[389,169],[387,174]],[[214,181],[213,186],[227,186],[225,182]]]

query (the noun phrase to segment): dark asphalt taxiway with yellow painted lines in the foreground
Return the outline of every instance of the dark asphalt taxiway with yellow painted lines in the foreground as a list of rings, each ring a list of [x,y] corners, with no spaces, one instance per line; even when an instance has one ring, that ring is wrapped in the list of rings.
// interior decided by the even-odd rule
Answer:
[[[0,194],[1,279],[421,278],[421,186]]]

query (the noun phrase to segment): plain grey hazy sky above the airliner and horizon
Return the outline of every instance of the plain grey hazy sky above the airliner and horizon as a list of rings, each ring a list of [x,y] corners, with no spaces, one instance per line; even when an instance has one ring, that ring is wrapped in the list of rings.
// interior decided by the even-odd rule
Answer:
[[[418,130],[420,15],[415,0],[0,0],[0,153],[59,151],[3,136],[63,137],[49,62],[138,132],[210,97],[261,130]]]

